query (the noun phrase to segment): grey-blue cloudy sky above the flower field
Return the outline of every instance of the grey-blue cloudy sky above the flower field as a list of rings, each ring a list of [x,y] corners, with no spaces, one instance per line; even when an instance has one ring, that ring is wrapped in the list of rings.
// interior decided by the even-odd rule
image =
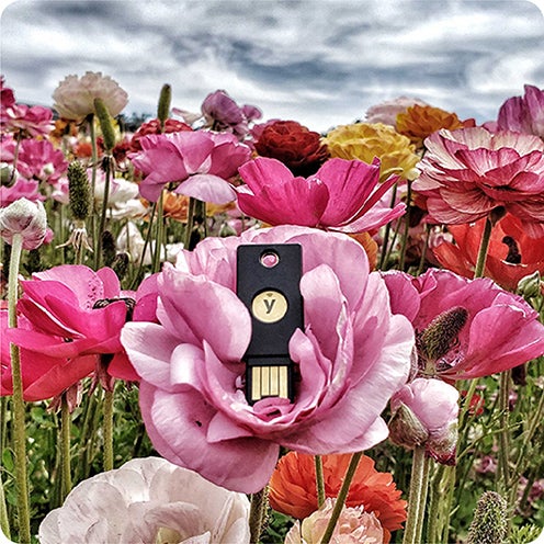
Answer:
[[[544,87],[543,1],[4,1],[1,72],[18,101],[52,105],[67,75],[102,71],[128,115],[155,113],[168,82],[183,110],[225,89],[316,131],[399,95],[484,122]]]

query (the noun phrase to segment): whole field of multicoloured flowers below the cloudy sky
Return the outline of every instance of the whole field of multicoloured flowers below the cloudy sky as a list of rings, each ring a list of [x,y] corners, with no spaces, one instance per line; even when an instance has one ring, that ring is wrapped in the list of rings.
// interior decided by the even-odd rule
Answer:
[[[521,91],[521,90],[520,90]],[[226,91],[1,82],[3,535],[511,543],[544,529],[544,90],[317,133]]]

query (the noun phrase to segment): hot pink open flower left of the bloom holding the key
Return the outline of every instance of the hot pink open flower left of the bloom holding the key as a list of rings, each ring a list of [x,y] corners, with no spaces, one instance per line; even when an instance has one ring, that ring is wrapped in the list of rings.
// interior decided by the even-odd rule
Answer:
[[[37,371],[33,374],[39,378],[33,396],[50,398],[102,366],[109,376],[137,381],[120,333],[127,319],[155,318],[156,294],[149,290],[155,277],[143,282],[136,293],[123,292],[109,268],[94,272],[84,265],[64,264],[22,281],[19,327],[5,336],[24,350],[32,367],[44,356],[55,360],[43,376]]]

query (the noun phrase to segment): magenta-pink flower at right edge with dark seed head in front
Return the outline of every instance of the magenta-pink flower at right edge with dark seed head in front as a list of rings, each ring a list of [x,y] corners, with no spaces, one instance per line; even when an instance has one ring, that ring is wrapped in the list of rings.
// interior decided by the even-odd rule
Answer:
[[[488,376],[544,353],[544,325],[523,298],[488,279],[430,269],[412,277],[383,274],[394,314],[412,324],[418,375],[444,379]]]

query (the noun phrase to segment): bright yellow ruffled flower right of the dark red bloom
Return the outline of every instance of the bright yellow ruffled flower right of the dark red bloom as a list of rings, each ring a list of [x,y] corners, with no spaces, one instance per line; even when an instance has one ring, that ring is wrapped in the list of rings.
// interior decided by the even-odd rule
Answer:
[[[375,157],[381,162],[381,178],[396,173],[404,179],[418,175],[419,157],[409,138],[382,123],[355,123],[341,125],[327,134],[325,143],[331,157],[359,159],[369,165]]]

